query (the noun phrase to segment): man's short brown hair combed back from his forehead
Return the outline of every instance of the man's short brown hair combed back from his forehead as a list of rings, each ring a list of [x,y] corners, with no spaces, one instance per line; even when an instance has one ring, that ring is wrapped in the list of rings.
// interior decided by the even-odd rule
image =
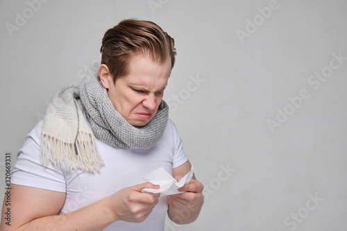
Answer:
[[[157,24],[137,19],[123,20],[106,31],[100,52],[101,64],[108,66],[114,81],[127,74],[128,60],[135,53],[149,54],[155,62],[171,58],[171,69],[176,55],[172,37]]]

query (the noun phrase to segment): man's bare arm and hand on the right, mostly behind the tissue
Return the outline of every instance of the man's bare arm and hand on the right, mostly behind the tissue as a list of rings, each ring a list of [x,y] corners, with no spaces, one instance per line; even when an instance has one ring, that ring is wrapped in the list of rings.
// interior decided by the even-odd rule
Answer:
[[[191,168],[192,164],[187,161],[172,169],[172,175],[176,180],[180,180]],[[175,223],[192,223],[198,218],[198,214],[200,214],[201,207],[203,206],[203,184],[193,176],[190,184],[186,184],[178,190],[185,192],[167,196],[167,202],[169,203],[167,214],[171,221]]]

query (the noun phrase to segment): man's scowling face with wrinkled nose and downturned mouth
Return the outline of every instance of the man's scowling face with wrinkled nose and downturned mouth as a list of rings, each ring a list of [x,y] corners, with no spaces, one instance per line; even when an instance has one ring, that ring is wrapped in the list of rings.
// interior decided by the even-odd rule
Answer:
[[[133,55],[128,74],[111,80],[108,97],[132,126],[145,126],[155,116],[171,74],[171,60],[153,62],[149,55]],[[111,76],[112,78],[112,76]]]

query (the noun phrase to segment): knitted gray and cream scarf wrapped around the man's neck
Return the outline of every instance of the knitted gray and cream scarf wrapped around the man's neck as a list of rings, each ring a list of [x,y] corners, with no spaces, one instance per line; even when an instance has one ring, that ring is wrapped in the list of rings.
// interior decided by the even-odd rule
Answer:
[[[131,126],[108,98],[98,68],[98,64],[92,65],[81,85],[62,87],[53,94],[40,137],[44,166],[51,160],[55,166],[64,162],[68,171],[94,173],[105,165],[95,137],[115,148],[151,148],[162,137],[169,115],[167,103],[160,103],[146,126]]]

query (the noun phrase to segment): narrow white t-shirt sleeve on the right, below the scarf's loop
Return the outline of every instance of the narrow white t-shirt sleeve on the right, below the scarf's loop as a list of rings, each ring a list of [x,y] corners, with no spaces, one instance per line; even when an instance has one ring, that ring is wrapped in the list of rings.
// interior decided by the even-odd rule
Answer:
[[[171,119],[168,121],[168,125],[171,128],[172,139],[174,141],[174,158],[172,163],[172,168],[176,168],[181,164],[187,162],[188,157],[185,155],[185,150],[183,149],[183,141],[180,138],[176,125]]]

